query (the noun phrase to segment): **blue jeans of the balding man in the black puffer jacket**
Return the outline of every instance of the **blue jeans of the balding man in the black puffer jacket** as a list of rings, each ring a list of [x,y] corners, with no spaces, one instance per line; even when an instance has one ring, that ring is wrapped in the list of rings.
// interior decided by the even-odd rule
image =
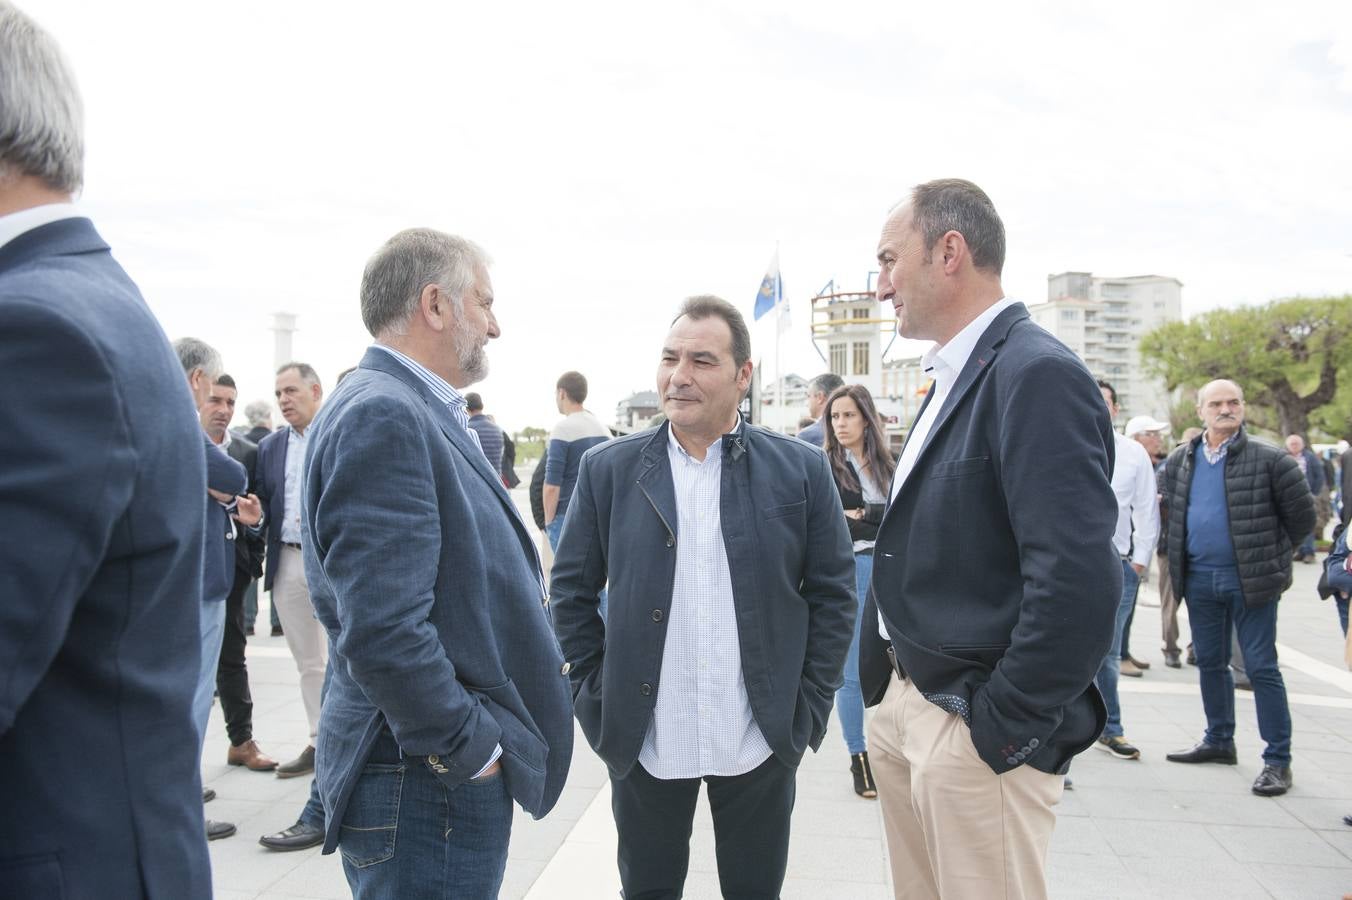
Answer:
[[[1230,628],[1244,651],[1253,682],[1259,734],[1267,742],[1263,762],[1291,765],[1291,711],[1286,684],[1276,665],[1276,608],[1274,600],[1251,609],[1244,605],[1238,569],[1188,569],[1183,599],[1192,624],[1192,647],[1202,684],[1207,743],[1234,746],[1234,678],[1230,674]]]

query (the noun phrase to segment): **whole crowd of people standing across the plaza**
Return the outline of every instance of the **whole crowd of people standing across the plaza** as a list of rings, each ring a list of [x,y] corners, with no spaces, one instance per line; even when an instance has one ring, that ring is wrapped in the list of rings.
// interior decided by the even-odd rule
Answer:
[[[230,765],[311,777],[261,843],[337,851],[354,897],[495,897],[515,808],[562,792],[575,719],[626,897],[681,896],[702,789],[725,896],[776,897],[833,709],[898,897],[1045,897],[1076,754],[1140,757],[1118,680],[1149,665],[1126,635],[1152,562],[1164,662],[1183,665],[1186,603],[1206,716],[1168,759],[1236,764],[1242,673],[1252,791],[1293,788],[1278,600],[1334,482],[1345,523],[1348,455],[1340,473],[1299,435],[1252,436],[1229,380],[1168,453],[1165,423],[1115,432],[1113,385],[1005,295],[977,185],[917,185],[880,230],[877,299],[933,342],[899,453],[833,374],[798,436],[748,422],[746,322],[692,296],[654,347],[661,424],[612,438],[587,378],[558,378],[533,531],[514,443],[466,392],[500,336],[476,243],[391,236],[362,273],[358,365],[327,396],[280,366],[285,424],[256,403],[237,434],[220,354],[166,339],[73,205],[81,166],[59,50],[0,1],[0,896],[210,896],[207,841],[235,832],[203,805],[219,696]],[[1344,631],[1347,558],[1344,534]],[[308,724],[285,762],[254,731],[260,589]]]

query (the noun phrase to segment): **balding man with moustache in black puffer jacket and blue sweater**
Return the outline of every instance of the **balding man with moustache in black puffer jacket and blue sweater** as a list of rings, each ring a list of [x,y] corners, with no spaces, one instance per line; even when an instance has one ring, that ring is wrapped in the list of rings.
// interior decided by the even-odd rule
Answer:
[[[1295,459],[1248,436],[1237,384],[1207,384],[1197,395],[1197,414],[1206,430],[1164,465],[1164,528],[1169,577],[1192,627],[1206,735],[1168,758],[1236,764],[1233,627],[1267,742],[1253,793],[1275,797],[1291,788],[1291,712],[1276,665],[1276,601],[1291,586],[1291,546],[1314,528],[1314,497]]]

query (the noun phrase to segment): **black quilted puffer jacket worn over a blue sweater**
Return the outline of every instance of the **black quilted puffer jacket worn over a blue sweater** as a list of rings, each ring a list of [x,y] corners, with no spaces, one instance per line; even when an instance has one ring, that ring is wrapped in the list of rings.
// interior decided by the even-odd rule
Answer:
[[[1174,593],[1187,599],[1187,499],[1192,462],[1205,435],[1175,447],[1164,464],[1161,520]],[[1240,427],[1225,451],[1225,505],[1240,568],[1244,605],[1276,603],[1291,586],[1291,547],[1314,531],[1314,497],[1291,454],[1251,439]]]

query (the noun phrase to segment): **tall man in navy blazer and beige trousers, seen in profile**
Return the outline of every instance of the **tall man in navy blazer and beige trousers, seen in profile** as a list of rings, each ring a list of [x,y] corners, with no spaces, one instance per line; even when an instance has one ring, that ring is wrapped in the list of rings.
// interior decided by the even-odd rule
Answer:
[[[877,258],[900,335],[936,342],[860,661],[864,696],[886,691],[868,743],[892,881],[899,897],[1044,897],[1063,774],[1106,719],[1113,426],[1084,365],[1005,299],[1005,226],[980,188],[914,188]]]

